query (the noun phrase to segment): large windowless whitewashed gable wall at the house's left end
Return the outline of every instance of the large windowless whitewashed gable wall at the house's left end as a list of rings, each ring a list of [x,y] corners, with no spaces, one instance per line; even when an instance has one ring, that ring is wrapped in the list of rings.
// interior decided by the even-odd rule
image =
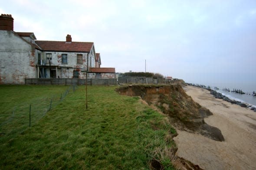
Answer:
[[[0,30],[0,83],[25,83],[35,78],[37,51],[12,31]]]

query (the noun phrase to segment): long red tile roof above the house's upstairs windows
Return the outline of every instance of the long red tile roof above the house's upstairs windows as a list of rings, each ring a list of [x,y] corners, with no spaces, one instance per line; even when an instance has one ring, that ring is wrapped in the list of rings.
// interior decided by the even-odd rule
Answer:
[[[93,42],[35,41],[43,51],[90,52]]]

